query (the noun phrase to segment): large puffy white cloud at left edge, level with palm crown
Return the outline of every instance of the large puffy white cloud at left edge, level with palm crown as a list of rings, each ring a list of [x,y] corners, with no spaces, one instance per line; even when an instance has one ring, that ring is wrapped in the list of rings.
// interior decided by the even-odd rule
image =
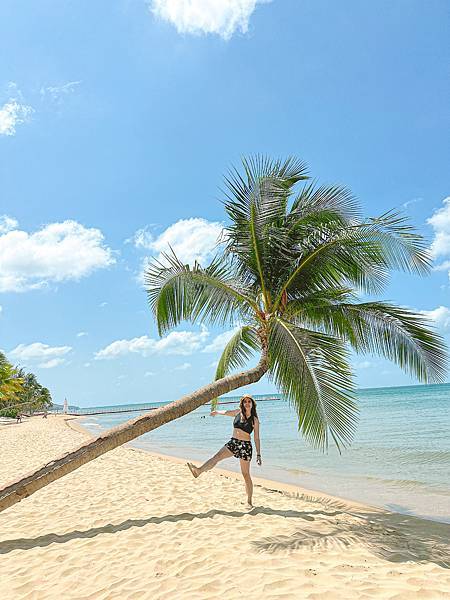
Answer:
[[[51,282],[78,281],[115,263],[99,229],[76,221],[50,223],[35,233],[0,235],[0,292],[23,292]]]

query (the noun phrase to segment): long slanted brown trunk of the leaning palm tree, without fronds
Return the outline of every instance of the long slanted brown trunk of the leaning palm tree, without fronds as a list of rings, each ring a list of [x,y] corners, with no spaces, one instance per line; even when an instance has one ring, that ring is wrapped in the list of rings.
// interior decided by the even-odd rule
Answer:
[[[34,494],[34,492],[37,492],[52,481],[56,481],[60,477],[67,475],[67,473],[75,471],[78,467],[94,460],[102,454],[192,412],[213,398],[259,381],[266,371],[267,360],[265,354],[263,354],[258,365],[253,369],[218,379],[192,394],[183,396],[180,400],[162,408],[152,410],[136,419],[131,419],[126,423],[122,423],[122,425],[105,431],[94,440],[84,442],[75,450],[64,454],[37,471],[28,473],[19,480],[13,481],[0,489],[0,511],[16,504],[16,502],[20,502],[23,498]]]

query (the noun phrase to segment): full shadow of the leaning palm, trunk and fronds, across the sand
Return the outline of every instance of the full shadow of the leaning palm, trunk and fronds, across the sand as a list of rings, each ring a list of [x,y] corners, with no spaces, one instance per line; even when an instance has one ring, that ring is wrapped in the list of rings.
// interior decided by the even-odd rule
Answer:
[[[288,495],[286,492],[284,494]],[[74,539],[94,538],[102,534],[115,534],[149,524],[212,519],[216,516],[242,518],[267,515],[299,519],[306,523],[301,530],[291,535],[273,536],[253,541],[252,545],[260,552],[302,549],[320,551],[330,547],[345,548],[350,544],[359,543],[379,558],[390,562],[432,562],[440,567],[450,568],[450,547],[448,545],[450,526],[407,515],[349,509],[344,502],[328,501],[324,498],[314,498],[304,494],[300,497],[308,503],[316,503],[317,509],[297,511],[259,506],[250,511],[212,509],[204,513],[185,512],[145,519],[127,519],[115,525],[110,523],[101,527],[92,527],[81,531],[74,530],[64,534],[49,533],[34,538],[5,540],[0,542],[0,554],[7,554],[14,550],[30,550],[50,544],[64,544]],[[320,528],[316,529],[315,524],[311,524],[314,521],[320,521]],[[250,526],[251,522],[248,523]]]

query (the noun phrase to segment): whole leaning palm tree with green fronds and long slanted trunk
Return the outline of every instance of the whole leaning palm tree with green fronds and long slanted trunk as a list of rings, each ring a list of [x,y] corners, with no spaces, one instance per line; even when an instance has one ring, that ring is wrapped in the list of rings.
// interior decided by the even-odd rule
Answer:
[[[305,182],[296,191],[307,179],[293,158],[244,160],[242,172],[225,179],[230,223],[212,263],[185,265],[170,250],[147,269],[160,335],[185,320],[236,328],[216,380],[0,490],[0,510],[266,373],[295,407],[310,443],[325,449],[331,438],[345,447],[357,422],[349,347],[388,358],[419,381],[443,381],[443,340],[422,315],[357,296],[381,292],[391,269],[426,274],[425,241],[395,212],[364,220],[343,187]],[[253,353],[256,366],[231,374]]]

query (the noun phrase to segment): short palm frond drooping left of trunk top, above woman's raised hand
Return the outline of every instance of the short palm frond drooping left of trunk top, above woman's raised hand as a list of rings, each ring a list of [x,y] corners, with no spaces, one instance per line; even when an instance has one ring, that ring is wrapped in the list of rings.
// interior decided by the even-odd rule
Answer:
[[[216,369],[215,379],[221,379],[234,369],[243,367],[253,352],[261,348],[258,334],[249,325],[240,327],[223,349]],[[216,409],[218,398],[211,400],[212,410]]]

